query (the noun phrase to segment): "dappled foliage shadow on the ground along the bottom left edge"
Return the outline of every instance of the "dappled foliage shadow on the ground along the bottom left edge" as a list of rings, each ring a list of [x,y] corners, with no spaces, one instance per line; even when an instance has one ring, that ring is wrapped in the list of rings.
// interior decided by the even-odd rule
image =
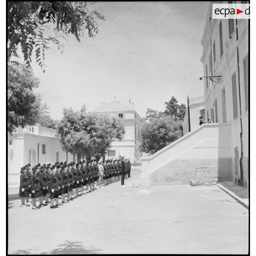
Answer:
[[[49,252],[41,252],[39,254],[102,254],[100,249],[95,249],[92,247],[85,248],[81,245],[81,242],[72,242],[72,241],[65,241],[64,244],[58,245],[54,250]],[[17,250],[14,252],[9,253],[10,255],[31,255],[35,254],[32,253],[30,250]]]

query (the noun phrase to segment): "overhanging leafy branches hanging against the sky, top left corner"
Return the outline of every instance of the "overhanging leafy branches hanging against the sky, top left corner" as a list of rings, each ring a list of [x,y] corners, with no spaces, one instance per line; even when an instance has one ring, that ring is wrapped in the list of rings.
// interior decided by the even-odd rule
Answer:
[[[61,53],[61,38],[72,34],[80,42],[87,30],[89,37],[99,32],[97,19],[105,17],[97,10],[90,10],[95,2],[83,1],[8,1],[8,61],[17,57],[20,45],[27,66],[35,50],[36,61],[45,72],[45,50],[49,43],[57,45]],[[46,36],[53,28],[55,35]]]

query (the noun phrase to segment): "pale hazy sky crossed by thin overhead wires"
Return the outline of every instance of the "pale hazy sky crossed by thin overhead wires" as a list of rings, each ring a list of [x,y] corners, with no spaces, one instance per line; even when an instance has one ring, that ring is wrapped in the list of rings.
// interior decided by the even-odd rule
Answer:
[[[164,111],[204,95],[201,38],[210,2],[97,2],[106,17],[99,33],[79,43],[67,37],[61,54],[46,51],[45,73],[32,61],[42,102],[61,119],[63,107],[88,111],[115,99],[145,117],[147,108]]]

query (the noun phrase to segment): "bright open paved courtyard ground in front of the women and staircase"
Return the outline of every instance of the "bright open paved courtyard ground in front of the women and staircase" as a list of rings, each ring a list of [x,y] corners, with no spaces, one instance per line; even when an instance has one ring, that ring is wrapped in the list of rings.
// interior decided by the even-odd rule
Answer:
[[[9,254],[247,254],[248,210],[223,190],[114,183],[58,209],[9,201]]]

